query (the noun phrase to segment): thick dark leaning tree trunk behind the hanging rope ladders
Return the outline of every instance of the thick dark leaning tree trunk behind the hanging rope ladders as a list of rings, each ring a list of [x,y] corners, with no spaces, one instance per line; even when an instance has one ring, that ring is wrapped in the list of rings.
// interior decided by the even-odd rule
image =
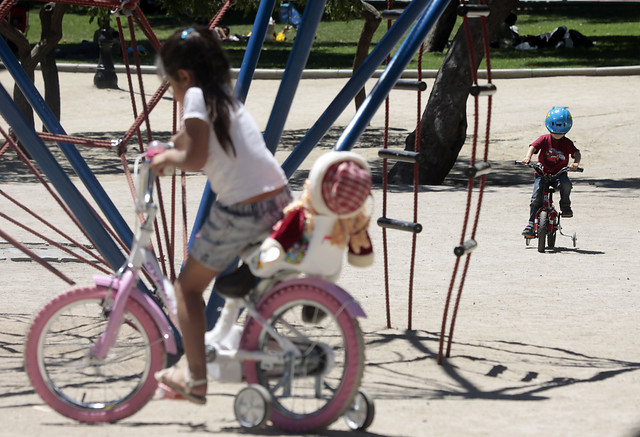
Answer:
[[[491,0],[491,14],[487,19],[489,35],[516,6],[517,0]],[[467,99],[473,83],[471,68],[477,71],[484,56],[481,19],[470,18],[476,65],[470,66],[464,26],[458,29],[453,44],[438,71],[429,101],[422,114],[419,183],[440,185],[453,168],[464,145],[467,132]],[[498,91],[499,92],[499,91]],[[413,150],[415,131],[406,139],[405,150]],[[398,162],[389,172],[389,181],[396,184],[413,183],[413,165]]]

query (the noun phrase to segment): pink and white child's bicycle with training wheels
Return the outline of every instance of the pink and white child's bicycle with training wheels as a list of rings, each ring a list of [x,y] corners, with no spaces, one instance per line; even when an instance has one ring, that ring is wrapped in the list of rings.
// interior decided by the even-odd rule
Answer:
[[[175,312],[173,286],[148,248],[157,211],[148,161],[145,155],[136,160],[136,207],[144,220],[127,261],[115,274],[95,277],[93,286],[54,298],[27,335],[25,366],[35,391],[81,422],[134,414],[156,391],[154,373],[180,354],[179,334],[167,316]],[[137,286],[143,268],[153,293]],[[234,404],[242,427],[270,420],[304,432],[341,415],[352,429],[369,426],[374,408],[360,390],[364,341],[357,320],[365,313],[353,297],[334,283],[291,272],[255,285],[241,268],[219,282],[230,306],[245,311],[223,311],[219,340],[237,332],[239,341],[211,348],[208,360],[218,370],[236,366],[249,384]]]

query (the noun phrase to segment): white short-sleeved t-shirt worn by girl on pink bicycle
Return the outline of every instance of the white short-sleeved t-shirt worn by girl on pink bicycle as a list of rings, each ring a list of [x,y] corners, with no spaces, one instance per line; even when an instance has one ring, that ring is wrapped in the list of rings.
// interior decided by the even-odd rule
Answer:
[[[187,90],[183,102],[184,120],[197,118],[209,124],[209,154],[204,173],[217,201],[232,205],[287,184],[280,164],[264,143],[264,138],[244,105],[236,102],[230,109],[229,136],[236,151],[227,154],[213,131],[202,89]]]

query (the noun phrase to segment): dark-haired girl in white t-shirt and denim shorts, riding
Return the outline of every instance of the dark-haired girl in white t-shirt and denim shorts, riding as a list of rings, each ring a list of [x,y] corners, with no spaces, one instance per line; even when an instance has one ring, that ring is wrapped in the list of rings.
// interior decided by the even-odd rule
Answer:
[[[224,49],[206,27],[173,34],[159,71],[182,106],[175,148],[155,156],[151,169],[204,170],[216,201],[176,281],[178,321],[188,366],[156,374],[185,399],[206,403],[203,292],[248,243],[268,233],[292,200],[287,178],[241,102],[233,98]]]

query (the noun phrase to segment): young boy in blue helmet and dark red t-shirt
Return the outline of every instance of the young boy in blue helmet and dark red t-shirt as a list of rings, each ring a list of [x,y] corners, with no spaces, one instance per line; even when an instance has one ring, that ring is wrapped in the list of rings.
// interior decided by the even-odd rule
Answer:
[[[580,163],[580,151],[573,144],[573,141],[565,136],[573,125],[573,119],[571,118],[569,110],[560,106],[551,108],[547,113],[544,124],[549,130],[549,133],[542,135],[531,143],[522,162],[528,164],[534,153],[538,153],[538,162],[542,165],[544,173],[555,174],[563,167],[569,165],[569,156],[571,156],[573,163],[570,165],[570,168],[576,170]],[[529,223],[522,231],[522,235],[525,237],[534,236],[533,221],[535,220],[536,212],[542,206],[543,193],[541,180],[542,178],[536,174],[533,182]],[[562,217],[573,217],[571,199],[569,198],[572,185],[566,172],[560,175],[556,184],[555,188],[560,192],[560,210],[562,211]]]

